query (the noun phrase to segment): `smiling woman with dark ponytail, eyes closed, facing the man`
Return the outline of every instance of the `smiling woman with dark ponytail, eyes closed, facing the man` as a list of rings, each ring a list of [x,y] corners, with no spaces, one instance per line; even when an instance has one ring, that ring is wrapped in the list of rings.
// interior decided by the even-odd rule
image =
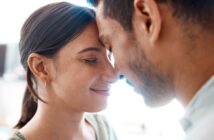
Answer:
[[[21,31],[27,89],[15,140],[115,140],[99,115],[116,70],[98,40],[94,12],[61,2],[35,11]]]

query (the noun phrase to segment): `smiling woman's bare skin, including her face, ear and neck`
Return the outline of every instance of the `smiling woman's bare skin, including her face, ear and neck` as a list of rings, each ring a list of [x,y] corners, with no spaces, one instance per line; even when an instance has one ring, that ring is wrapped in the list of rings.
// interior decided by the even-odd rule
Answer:
[[[32,53],[28,65],[47,104],[38,101],[35,116],[21,133],[29,140],[94,140],[94,129],[84,113],[106,107],[110,85],[117,78],[108,54],[94,23],[52,59]]]

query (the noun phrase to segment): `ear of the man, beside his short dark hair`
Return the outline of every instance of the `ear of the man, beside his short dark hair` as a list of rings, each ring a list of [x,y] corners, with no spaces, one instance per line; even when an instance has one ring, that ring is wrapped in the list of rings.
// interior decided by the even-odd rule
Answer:
[[[155,42],[161,31],[160,11],[155,0],[134,0],[134,16],[140,22],[137,28]]]

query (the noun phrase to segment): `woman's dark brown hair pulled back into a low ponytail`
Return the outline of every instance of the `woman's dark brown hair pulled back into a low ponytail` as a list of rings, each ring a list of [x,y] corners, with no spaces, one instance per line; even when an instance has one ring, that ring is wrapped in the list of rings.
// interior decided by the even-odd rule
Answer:
[[[27,88],[21,118],[15,128],[22,128],[28,123],[36,113],[37,100],[43,101],[36,93],[37,83],[28,67],[28,56],[38,53],[54,57],[65,44],[78,37],[93,22],[94,11],[67,2],[41,7],[26,20],[21,30],[19,50],[21,64],[27,73]]]

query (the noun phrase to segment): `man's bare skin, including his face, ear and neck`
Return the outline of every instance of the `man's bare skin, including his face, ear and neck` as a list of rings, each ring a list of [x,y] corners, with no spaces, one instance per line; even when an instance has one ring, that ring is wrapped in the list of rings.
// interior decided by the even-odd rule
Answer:
[[[213,35],[174,17],[169,4],[134,0],[131,31],[104,16],[102,1],[96,13],[100,39],[112,48],[120,73],[147,105],[157,107],[177,98],[186,106],[213,75]]]

